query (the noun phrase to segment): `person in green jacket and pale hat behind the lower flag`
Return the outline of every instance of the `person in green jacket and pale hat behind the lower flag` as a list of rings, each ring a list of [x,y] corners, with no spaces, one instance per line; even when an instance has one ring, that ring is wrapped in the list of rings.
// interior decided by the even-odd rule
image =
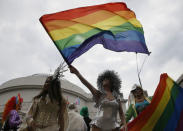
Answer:
[[[132,117],[136,118],[151,103],[152,99],[152,97],[145,97],[142,87],[136,84],[130,93],[134,98],[134,104],[130,104],[125,114],[126,122],[129,122]]]

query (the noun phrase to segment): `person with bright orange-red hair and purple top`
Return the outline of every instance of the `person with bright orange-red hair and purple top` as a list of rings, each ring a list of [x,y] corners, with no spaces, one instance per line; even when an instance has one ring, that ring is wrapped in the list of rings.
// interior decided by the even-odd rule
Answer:
[[[22,123],[18,111],[21,110],[23,98],[18,96],[11,97],[5,104],[2,123],[4,131],[17,131]]]

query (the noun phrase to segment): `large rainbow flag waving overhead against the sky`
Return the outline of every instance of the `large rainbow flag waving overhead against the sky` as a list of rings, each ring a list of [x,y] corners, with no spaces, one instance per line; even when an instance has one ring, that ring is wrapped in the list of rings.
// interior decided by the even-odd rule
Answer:
[[[43,15],[40,21],[68,64],[95,44],[150,54],[142,25],[125,3],[107,3]]]

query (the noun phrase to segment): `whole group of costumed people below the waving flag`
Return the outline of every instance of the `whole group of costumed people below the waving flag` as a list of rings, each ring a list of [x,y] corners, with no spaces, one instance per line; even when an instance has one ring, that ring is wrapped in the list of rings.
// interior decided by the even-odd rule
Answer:
[[[98,89],[90,84],[73,66],[70,72],[90,90],[93,95],[97,113],[94,119],[89,117],[88,107],[78,111],[74,103],[68,104],[62,96],[61,76],[49,76],[41,92],[33,98],[32,105],[22,120],[18,114],[23,99],[20,94],[6,103],[3,112],[4,131],[119,131],[127,129],[127,122],[137,117],[149,105],[151,98],[145,97],[143,89],[135,85],[131,90],[134,104],[124,113],[122,109],[120,88],[121,80],[117,72],[106,70],[97,78]],[[120,122],[117,118],[119,114]]]

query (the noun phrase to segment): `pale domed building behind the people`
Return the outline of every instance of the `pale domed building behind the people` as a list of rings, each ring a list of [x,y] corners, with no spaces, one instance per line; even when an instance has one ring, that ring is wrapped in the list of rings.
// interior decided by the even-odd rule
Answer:
[[[5,103],[12,96],[17,96],[18,93],[23,97],[21,112],[22,115],[24,115],[28,111],[33,97],[41,91],[48,76],[48,74],[34,74],[27,77],[12,79],[0,85],[0,120]],[[83,89],[66,79],[61,79],[61,87],[65,99],[70,103],[77,102],[78,109],[87,106],[90,117],[93,118],[96,113],[96,108],[94,107],[91,94],[86,93]],[[121,97],[123,97],[123,95]],[[126,100],[124,100],[123,103],[123,109],[126,110]]]

